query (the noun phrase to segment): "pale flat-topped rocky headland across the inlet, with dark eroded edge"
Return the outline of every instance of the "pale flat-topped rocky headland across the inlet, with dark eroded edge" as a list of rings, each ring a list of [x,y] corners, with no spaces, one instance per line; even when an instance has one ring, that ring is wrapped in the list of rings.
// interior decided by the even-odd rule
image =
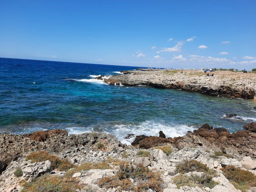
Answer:
[[[180,89],[200,92],[225,98],[256,99],[256,74],[216,71],[214,76],[205,76],[199,71],[121,71],[124,75],[113,75],[104,79],[111,85],[146,85],[155,88]]]

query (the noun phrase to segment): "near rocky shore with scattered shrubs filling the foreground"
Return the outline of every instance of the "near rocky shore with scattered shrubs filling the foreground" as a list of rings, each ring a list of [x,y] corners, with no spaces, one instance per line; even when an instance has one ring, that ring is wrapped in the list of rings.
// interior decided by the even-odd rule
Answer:
[[[136,136],[129,146],[98,132],[0,133],[0,191],[253,192],[256,123],[244,129],[204,124],[183,137]]]

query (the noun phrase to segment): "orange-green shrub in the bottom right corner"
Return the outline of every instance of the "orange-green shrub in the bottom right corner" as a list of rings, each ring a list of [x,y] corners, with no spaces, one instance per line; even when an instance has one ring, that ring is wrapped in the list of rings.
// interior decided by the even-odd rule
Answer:
[[[236,168],[233,165],[228,165],[221,168],[225,177],[242,192],[246,192],[250,187],[256,187],[256,175],[252,172]]]

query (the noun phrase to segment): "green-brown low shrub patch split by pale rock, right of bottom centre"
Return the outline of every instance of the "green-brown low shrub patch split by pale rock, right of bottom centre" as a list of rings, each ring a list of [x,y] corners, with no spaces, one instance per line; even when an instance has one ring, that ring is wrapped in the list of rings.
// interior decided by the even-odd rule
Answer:
[[[191,176],[184,175],[185,173],[194,171],[203,172],[203,176],[193,174]],[[173,181],[178,188],[185,185],[190,187],[199,186],[213,188],[218,185],[218,182],[212,180],[214,176],[218,175],[217,172],[196,160],[185,160],[177,164],[174,174],[177,173],[180,173],[180,175],[174,177]]]

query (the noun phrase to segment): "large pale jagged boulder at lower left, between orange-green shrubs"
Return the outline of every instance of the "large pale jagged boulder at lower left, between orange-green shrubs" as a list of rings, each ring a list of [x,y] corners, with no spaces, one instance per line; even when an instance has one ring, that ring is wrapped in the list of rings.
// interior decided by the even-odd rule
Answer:
[[[33,180],[44,173],[51,172],[51,165],[52,163],[49,160],[27,164],[21,168],[23,172],[22,176],[25,180]]]

